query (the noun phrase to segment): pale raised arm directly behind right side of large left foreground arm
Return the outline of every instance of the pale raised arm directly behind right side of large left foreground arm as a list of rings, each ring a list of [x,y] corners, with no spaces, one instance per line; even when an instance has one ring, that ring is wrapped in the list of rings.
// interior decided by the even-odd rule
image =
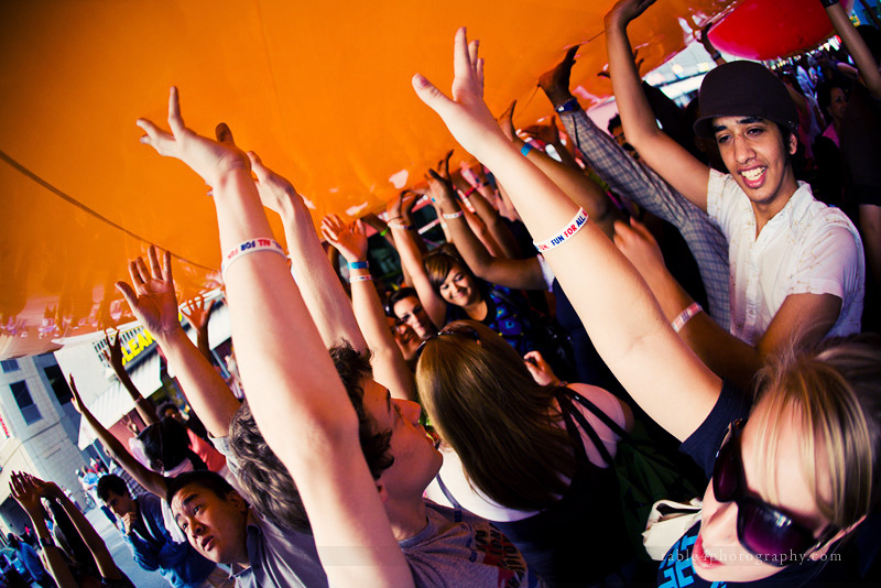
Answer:
[[[325,347],[346,339],[359,351],[365,350],[367,344],[358,329],[349,297],[327,262],[303,198],[291,182],[263,165],[255,153],[248,156],[263,206],[282,217],[287,250],[292,252],[291,272]]]

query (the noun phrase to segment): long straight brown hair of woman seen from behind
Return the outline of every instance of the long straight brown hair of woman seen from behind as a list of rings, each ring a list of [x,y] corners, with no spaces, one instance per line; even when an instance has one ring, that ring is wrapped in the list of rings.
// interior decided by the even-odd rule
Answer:
[[[566,491],[563,477],[575,476],[576,462],[556,389],[535,383],[499,334],[474,320],[450,323],[425,342],[416,386],[472,488],[518,510],[545,509]]]

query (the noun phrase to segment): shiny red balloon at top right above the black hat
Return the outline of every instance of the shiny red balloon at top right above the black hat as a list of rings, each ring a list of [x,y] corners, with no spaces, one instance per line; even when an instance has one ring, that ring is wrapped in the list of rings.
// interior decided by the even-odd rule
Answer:
[[[850,11],[853,0],[842,2]],[[787,57],[834,34],[819,0],[743,0],[709,31],[713,46],[748,59]]]

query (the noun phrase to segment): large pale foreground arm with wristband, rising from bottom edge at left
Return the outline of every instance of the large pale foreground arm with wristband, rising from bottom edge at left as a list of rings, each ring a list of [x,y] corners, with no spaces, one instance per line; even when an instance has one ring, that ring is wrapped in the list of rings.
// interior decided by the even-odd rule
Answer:
[[[221,251],[248,251],[224,272],[239,371],[263,437],[300,490],[329,584],[412,586],[361,453],[358,417],[287,260],[271,243],[248,157],[229,140],[187,129],[174,88],[172,132],[143,119],[138,124],[146,131],[144,143],[183,161],[213,187]]]

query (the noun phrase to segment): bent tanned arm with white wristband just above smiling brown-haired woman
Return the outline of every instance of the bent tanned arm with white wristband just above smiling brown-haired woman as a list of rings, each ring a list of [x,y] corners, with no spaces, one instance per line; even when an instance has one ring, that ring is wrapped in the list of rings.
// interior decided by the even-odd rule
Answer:
[[[536,258],[509,259],[491,255],[471,231],[465,217],[456,217],[461,208],[453,193],[453,186],[446,178],[434,174],[428,181],[428,187],[442,214],[452,217],[447,219],[447,228],[453,242],[475,275],[511,288],[546,290],[542,268]]]

